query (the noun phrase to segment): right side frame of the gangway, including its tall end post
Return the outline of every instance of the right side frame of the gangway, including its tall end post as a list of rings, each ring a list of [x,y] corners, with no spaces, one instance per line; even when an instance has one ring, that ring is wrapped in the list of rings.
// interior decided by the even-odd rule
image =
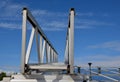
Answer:
[[[69,65],[70,74],[74,73],[74,16],[74,8],[71,8],[65,47],[65,64]]]

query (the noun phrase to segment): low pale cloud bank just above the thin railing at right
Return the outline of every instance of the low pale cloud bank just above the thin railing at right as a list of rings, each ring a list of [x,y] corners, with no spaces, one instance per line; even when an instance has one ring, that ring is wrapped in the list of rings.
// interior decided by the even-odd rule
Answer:
[[[76,59],[75,64],[88,67],[88,62],[92,62],[92,66],[101,66],[101,67],[119,67],[120,56],[110,56],[105,54],[95,54],[89,56],[83,56]]]

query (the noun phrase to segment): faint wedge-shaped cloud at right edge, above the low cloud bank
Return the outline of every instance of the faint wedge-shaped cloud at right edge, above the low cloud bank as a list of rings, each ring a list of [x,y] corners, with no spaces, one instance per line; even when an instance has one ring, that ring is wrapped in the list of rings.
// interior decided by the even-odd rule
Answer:
[[[111,41],[111,42],[104,42],[102,44],[91,45],[88,48],[107,48],[115,51],[120,51],[120,41]]]

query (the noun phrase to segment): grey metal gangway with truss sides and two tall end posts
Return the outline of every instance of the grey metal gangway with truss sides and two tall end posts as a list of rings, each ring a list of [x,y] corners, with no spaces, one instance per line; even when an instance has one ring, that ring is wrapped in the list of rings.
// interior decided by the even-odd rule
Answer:
[[[65,62],[58,62],[58,53],[48,40],[47,36],[42,31],[41,27],[38,25],[35,18],[32,16],[31,12],[27,9],[23,9],[23,23],[22,23],[22,60],[21,60],[21,73],[25,74],[32,70],[37,71],[67,71],[73,74],[73,59],[74,59],[74,9],[70,10],[68,32],[66,38],[66,50],[65,50]],[[26,46],[26,29],[27,22],[32,25],[32,31],[28,46]],[[30,64],[29,58],[31,53],[31,48],[33,44],[33,39],[36,38],[38,63]],[[72,47],[71,47],[72,46]],[[46,60],[44,60],[46,57]]]

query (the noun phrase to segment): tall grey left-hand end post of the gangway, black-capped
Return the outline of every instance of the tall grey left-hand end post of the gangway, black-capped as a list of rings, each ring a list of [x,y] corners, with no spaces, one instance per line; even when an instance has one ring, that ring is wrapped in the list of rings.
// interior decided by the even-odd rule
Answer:
[[[27,10],[23,9],[21,73],[25,73]]]

